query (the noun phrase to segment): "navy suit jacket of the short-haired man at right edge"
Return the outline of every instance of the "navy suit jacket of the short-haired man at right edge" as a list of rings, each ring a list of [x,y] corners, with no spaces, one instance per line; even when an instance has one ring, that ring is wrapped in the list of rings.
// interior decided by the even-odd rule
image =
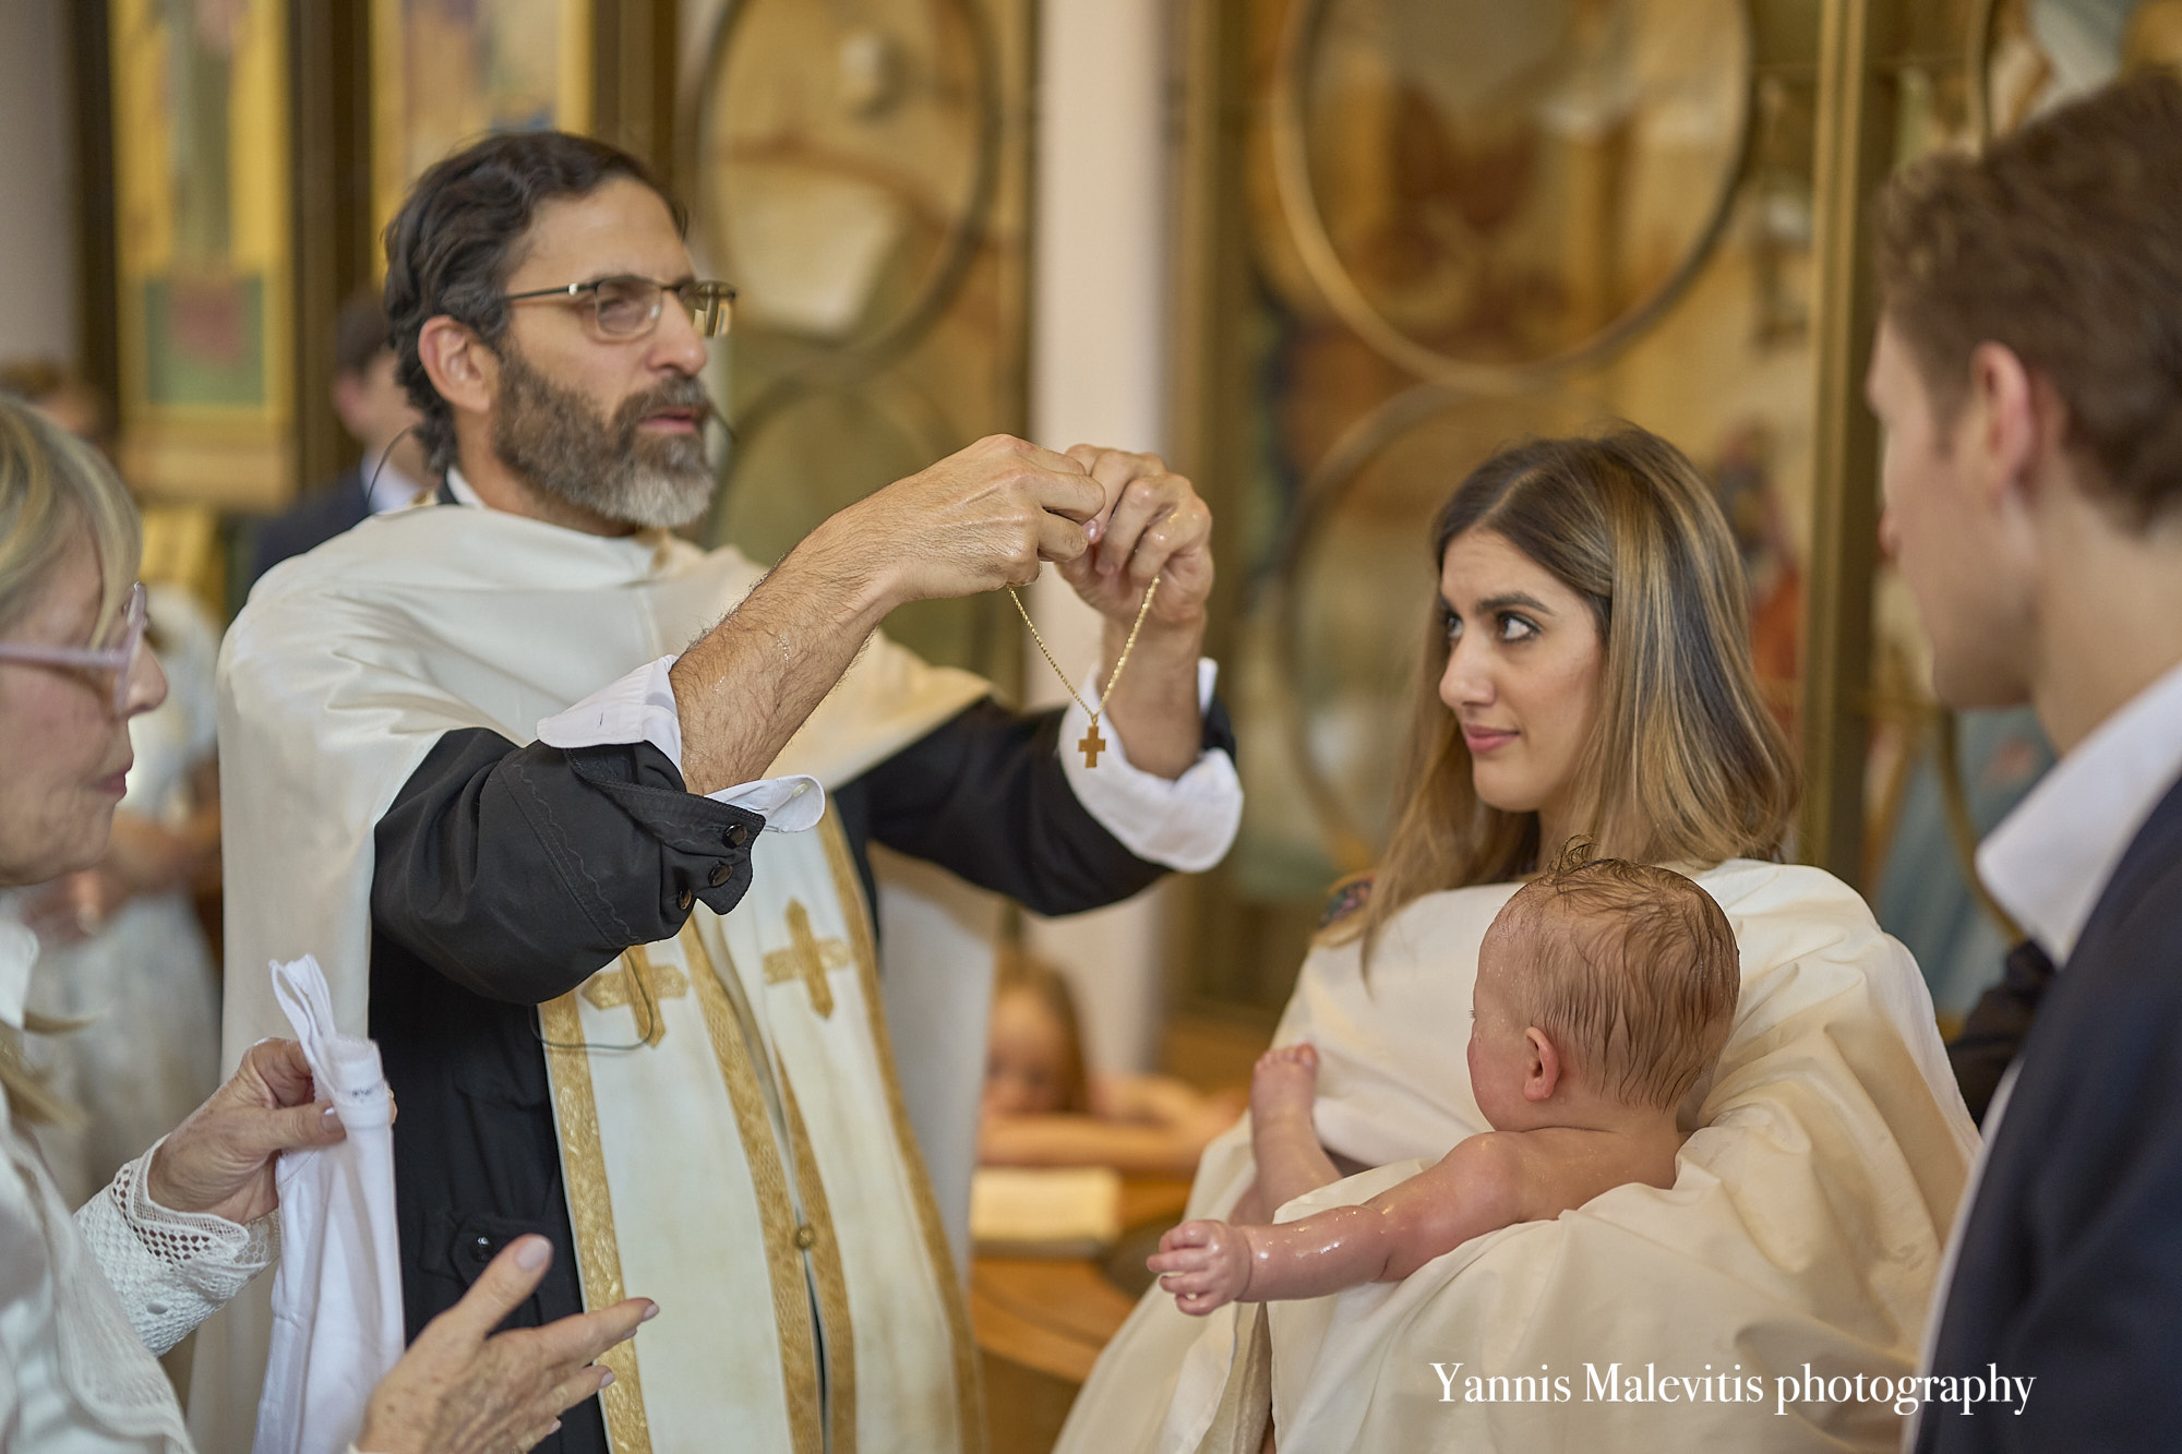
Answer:
[[[2108,880],[2021,1065],[1933,1373],[2036,1382],[2021,1415],[1927,1404],[1918,1454],[2182,1447],[2182,784]]]

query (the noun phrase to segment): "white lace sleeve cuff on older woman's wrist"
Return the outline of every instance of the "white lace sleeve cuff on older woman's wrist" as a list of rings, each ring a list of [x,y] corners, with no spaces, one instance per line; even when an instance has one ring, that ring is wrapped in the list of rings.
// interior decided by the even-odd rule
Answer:
[[[279,1218],[238,1227],[225,1216],[170,1212],[144,1190],[157,1146],[113,1172],[76,1212],[76,1231],[113,1284],[153,1354],[181,1343],[279,1255]]]

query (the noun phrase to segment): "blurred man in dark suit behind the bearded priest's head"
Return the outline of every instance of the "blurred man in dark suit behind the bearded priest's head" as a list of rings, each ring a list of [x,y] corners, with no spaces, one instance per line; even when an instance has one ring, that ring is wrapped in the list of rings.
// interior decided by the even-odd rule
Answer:
[[[410,432],[417,406],[395,378],[386,306],[375,290],[351,297],[334,319],[334,413],[364,458],[257,528],[251,585],[290,555],[323,546],[364,515],[401,509],[425,487],[423,445]]]

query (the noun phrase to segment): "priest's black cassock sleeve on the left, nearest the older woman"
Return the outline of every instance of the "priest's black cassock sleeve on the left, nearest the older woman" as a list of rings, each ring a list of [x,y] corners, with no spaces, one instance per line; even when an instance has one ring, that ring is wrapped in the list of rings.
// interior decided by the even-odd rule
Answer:
[[[694,899],[740,904],[764,825],[685,792],[648,742],[449,731],[380,819],[371,923],[476,996],[543,1004],[672,939]]]

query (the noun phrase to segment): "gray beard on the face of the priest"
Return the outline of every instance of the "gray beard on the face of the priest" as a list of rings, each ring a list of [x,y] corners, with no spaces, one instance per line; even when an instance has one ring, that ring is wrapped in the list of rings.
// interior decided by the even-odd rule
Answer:
[[[692,410],[696,432],[639,430],[666,408]],[[493,454],[556,500],[622,524],[672,531],[711,504],[714,474],[705,458],[705,421],[711,413],[705,384],[674,378],[622,400],[609,419],[511,347],[500,351]]]

